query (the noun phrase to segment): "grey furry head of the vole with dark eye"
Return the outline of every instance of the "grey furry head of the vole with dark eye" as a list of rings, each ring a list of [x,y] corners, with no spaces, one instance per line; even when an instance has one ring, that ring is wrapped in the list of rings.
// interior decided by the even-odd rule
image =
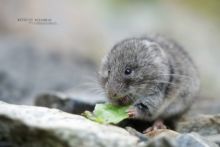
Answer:
[[[128,105],[161,90],[168,74],[168,60],[158,44],[131,38],[110,50],[102,61],[99,79],[110,102]]]

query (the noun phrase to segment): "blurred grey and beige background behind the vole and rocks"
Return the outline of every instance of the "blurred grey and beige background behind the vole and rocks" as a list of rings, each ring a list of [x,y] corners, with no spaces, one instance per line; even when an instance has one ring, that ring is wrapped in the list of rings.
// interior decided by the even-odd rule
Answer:
[[[200,97],[218,107],[219,0],[1,0],[0,99],[32,104],[47,91],[85,93],[107,50],[148,33],[184,46],[200,71]]]

